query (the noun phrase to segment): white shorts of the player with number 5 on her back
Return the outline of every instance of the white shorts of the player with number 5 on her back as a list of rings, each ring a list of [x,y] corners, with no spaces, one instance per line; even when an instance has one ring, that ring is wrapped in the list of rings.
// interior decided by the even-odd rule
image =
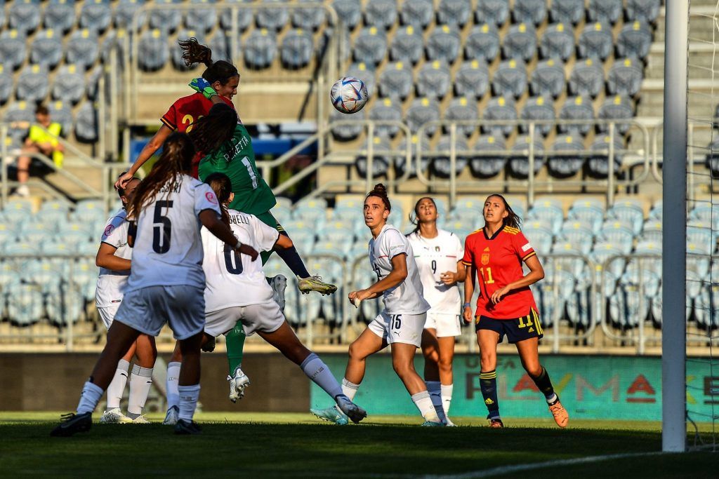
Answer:
[[[175,339],[191,338],[205,326],[204,289],[150,286],[127,292],[115,320],[150,336],[159,335],[168,323]]]

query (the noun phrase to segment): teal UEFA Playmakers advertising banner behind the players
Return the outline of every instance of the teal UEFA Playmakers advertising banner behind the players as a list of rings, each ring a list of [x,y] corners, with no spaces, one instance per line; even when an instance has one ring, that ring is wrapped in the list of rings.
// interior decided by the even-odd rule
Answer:
[[[347,365],[346,355],[323,355],[338,379]],[[661,358],[637,356],[544,355],[554,389],[572,418],[661,420]],[[415,367],[422,374],[421,355]],[[454,396],[451,416],[486,416],[480,391],[480,358],[454,358]],[[497,364],[500,411],[503,417],[546,417],[546,402],[522,368],[517,355],[500,355]],[[712,407],[719,410],[719,368],[714,375],[707,360],[687,360],[687,407],[692,419],[709,421]],[[355,396],[368,414],[416,414],[407,391],[392,369],[390,355],[367,359],[367,373]],[[319,387],[312,385],[312,407],[331,404]]]

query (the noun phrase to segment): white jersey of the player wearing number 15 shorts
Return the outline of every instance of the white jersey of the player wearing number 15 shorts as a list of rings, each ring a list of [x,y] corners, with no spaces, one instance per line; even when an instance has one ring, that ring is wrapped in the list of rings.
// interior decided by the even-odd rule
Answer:
[[[414,261],[412,246],[393,225],[385,225],[377,238],[370,240],[370,264],[377,274],[377,281],[392,271],[392,259],[405,254],[407,278],[383,294],[385,310],[390,315],[419,315],[429,310],[429,303],[422,296],[422,282]]]

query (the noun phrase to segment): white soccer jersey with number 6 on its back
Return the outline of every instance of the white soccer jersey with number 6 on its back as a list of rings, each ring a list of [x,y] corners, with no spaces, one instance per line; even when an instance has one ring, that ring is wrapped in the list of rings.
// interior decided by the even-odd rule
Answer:
[[[265,225],[255,215],[229,210],[229,223],[234,236],[256,251],[270,251],[280,236],[275,228]],[[226,247],[206,228],[202,228],[202,246],[206,312],[273,300],[273,289],[267,284],[260,258],[252,261],[246,254]]]

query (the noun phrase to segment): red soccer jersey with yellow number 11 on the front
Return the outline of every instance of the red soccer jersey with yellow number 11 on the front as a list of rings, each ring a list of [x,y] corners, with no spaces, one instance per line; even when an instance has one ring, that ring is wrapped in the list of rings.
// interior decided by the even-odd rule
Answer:
[[[530,314],[530,308],[536,310],[529,287],[513,289],[492,304],[495,291],[523,278],[522,262],[535,254],[522,232],[509,226],[503,226],[491,238],[487,238],[484,228],[467,236],[462,263],[477,269],[480,297],[476,316],[513,320]]]

